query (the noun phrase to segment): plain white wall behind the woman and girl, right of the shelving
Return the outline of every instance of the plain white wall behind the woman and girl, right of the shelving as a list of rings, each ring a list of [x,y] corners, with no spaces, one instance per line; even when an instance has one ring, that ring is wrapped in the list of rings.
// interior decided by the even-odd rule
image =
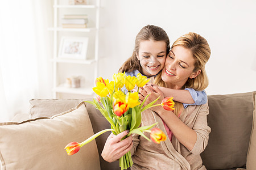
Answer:
[[[101,0],[101,6],[103,78],[111,78],[131,56],[139,30],[154,24],[166,30],[171,44],[188,32],[208,40],[208,95],[256,90],[256,1]]]

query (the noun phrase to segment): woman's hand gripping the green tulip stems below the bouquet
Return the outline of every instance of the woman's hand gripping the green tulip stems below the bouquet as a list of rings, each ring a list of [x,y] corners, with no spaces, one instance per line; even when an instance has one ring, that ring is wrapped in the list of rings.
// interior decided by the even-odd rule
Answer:
[[[125,155],[133,147],[133,137],[121,139],[129,133],[129,130],[125,130],[122,133],[114,135],[111,133],[106,140],[105,146],[101,152],[101,156],[107,162],[114,162]]]

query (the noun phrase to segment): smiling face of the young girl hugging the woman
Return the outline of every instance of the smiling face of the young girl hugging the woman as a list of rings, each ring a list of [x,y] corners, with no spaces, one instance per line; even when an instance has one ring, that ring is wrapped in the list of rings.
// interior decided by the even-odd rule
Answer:
[[[139,44],[137,58],[142,66],[142,74],[154,76],[164,67],[166,61],[166,42],[146,40]]]

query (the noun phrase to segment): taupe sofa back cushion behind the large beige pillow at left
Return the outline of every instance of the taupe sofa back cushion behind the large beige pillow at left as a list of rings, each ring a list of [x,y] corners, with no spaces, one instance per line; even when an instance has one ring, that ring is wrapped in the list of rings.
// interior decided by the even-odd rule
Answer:
[[[38,116],[53,116],[57,113],[60,113],[61,111],[67,108],[73,108],[75,105],[80,103],[80,101],[84,100],[90,100],[93,101],[93,98],[89,99],[32,99],[30,100],[31,103],[31,110],[30,113],[32,117],[38,117]],[[110,124],[106,120],[106,118],[101,114],[98,109],[96,109],[92,104],[85,103],[87,112],[90,117],[90,121],[92,122],[92,127],[94,134],[98,131],[109,129]],[[98,155],[101,155],[101,152],[104,148],[106,139],[108,138],[110,132],[106,132],[104,134],[101,134],[96,138],[96,144],[98,148]],[[116,162],[106,162],[101,156],[100,156],[100,163],[101,167],[104,169],[112,169],[112,170],[118,170],[119,168],[119,161]]]

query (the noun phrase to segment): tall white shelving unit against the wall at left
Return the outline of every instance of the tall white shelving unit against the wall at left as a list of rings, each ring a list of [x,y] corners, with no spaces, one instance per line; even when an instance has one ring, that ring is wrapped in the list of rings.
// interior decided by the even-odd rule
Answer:
[[[92,1],[95,4],[68,5],[67,0],[53,0],[53,98],[65,96],[82,97],[92,96],[94,80],[98,75],[98,38],[100,22],[100,0]],[[88,15],[87,28],[62,28],[61,17],[64,14]],[[89,37],[86,59],[59,58],[60,39],[63,36]],[[87,59],[88,58],[88,59]],[[72,88],[65,86],[65,80],[70,76],[81,77],[81,87]]]

